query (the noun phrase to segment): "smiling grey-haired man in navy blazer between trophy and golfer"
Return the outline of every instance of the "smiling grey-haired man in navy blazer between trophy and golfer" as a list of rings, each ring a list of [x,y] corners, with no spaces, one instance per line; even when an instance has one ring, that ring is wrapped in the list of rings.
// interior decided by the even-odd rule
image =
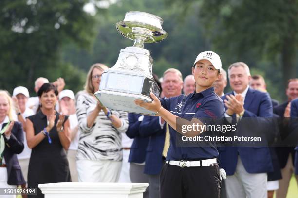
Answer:
[[[179,96],[183,88],[182,74],[177,69],[167,69],[163,75],[162,89],[166,98]],[[149,137],[144,173],[149,176],[149,198],[159,198],[159,176],[165,163],[165,137],[167,124],[160,117],[145,116],[140,134]]]

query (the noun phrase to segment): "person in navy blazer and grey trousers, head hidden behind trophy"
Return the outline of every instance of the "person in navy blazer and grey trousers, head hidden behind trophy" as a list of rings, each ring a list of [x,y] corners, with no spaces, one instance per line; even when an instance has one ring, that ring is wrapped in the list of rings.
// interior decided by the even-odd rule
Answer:
[[[130,179],[133,183],[148,183],[148,175],[144,173],[146,148],[149,142],[149,137],[141,137],[139,133],[139,126],[144,118],[140,114],[128,114],[129,128],[126,135],[133,138],[130,147]],[[149,198],[148,188],[143,193],[143,198]]]

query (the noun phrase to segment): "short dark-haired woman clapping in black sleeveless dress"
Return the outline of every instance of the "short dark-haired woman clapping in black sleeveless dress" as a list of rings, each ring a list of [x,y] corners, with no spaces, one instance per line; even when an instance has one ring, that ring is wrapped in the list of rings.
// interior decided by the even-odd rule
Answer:
[[[40,111],[26,120],[26,135],[32,148],[28,187],[37,188],[40,183],[71,182],[65,150],[70,145],[68,117],[55,111],[57,89],[51,83],[43,84],[37,92]],[[44,195],[37,188],[37,196]]]

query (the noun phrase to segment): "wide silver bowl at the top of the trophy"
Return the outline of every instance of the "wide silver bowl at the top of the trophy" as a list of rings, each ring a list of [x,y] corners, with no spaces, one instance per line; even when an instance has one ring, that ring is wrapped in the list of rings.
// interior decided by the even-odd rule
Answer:
[[[164,40],[168,33],[162,29],[163,19],[145,12],[127,12],[123,21],[116,24],[116,28],[123,36],[141,40],[144,43],[154,43]]]

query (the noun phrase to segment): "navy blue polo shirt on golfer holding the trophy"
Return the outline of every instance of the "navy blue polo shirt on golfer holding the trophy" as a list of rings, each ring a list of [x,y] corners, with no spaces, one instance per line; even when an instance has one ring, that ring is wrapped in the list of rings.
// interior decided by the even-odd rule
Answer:
[[[203,123],[202,118],[219,119],[224,117],[223,100],[214,93],[214,88],[208,88],[200,93],[189,95],[181,94],[177,97],[160,99],[161,105],[178,117],[188,120],[197,118]],[[166,160],[197,160],[218,157],[215,144],[210,147],[177,147],[175,143],[176,132],[169,126],[170,147]]]

